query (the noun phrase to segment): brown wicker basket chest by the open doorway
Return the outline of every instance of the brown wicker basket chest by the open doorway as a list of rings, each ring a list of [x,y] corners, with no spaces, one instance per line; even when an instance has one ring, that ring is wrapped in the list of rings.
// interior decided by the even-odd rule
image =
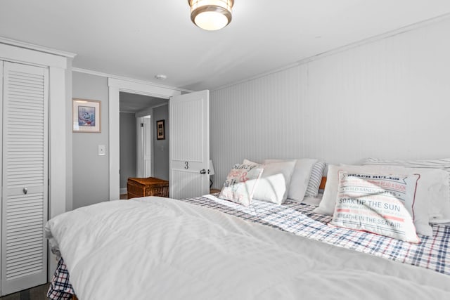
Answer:
[[[169,197],[169,181],[160,178],[128,178],[128,199],[146,196]]]

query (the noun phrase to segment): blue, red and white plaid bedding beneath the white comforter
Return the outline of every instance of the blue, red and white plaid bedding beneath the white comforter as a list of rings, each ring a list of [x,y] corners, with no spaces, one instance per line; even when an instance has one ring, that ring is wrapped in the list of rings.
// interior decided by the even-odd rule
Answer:
[[[420,237],[411,244],[390,237],[328,226],[332,217],[315,214],[313,205],[287,200],[282,205],[254,200],[249,207],[221,200],[214,195],[181,199],[180,201],[215,209],[240,219],[260,223],[295,235],[319,240],[385,259],[409,263],[450,275],[450,226],[432,225],[432,237]],[[63,259],[53,276],[47,296],[50,299],[70,299],[74,294]]]

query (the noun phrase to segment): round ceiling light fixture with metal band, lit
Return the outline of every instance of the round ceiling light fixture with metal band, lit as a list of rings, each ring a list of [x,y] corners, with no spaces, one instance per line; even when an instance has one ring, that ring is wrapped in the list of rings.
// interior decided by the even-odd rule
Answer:
[[[203,30],[219,30],[231,22],[234,0],[188,0],[191,20]]]

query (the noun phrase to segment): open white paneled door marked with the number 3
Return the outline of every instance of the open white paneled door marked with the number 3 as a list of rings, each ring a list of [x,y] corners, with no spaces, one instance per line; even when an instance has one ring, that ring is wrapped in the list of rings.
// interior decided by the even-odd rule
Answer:
[[[169,100],[169,197],[210,192],[210,91]]]

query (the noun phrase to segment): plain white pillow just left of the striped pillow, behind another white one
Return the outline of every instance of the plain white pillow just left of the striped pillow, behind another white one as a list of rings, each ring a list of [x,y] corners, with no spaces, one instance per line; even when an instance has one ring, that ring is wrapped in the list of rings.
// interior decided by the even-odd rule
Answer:
[[[264,159],[264,164],[271,164],[274,162],[286,162],[288,159]],[[317,159],[302,158],[295,159],[295,167],[293,176],[290,178],[290,185],[288,189],[288,198],[299,202],[303,201],[304,194],[307,192],[309,176],[311,170]]]

